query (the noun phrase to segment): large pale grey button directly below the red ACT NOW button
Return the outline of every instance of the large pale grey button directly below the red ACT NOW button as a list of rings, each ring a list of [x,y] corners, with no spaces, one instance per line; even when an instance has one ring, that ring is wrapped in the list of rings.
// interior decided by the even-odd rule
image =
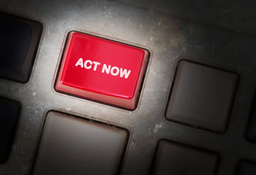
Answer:
[[[127,133],[49,112],[34,175],[116,175]]]

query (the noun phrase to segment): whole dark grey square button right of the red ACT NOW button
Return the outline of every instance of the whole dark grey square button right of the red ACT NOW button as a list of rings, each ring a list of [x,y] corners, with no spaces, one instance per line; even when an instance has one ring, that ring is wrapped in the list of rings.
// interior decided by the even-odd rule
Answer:
[[[224,132],[238,78],[232,72],[181,60],[166,119]]]

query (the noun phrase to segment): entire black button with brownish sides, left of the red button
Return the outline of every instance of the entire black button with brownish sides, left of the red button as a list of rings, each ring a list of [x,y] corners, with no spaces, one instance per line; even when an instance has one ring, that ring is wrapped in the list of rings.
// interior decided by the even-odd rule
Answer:
[[[43,26],[0,14],[0,76],[20,83],[29,80]]]

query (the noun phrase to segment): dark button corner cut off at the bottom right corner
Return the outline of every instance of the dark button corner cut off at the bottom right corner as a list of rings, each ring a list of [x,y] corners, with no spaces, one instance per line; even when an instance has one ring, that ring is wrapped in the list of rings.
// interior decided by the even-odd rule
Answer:
[[[236,175],[256,175],[256,164],[250,161],[240,161]]]

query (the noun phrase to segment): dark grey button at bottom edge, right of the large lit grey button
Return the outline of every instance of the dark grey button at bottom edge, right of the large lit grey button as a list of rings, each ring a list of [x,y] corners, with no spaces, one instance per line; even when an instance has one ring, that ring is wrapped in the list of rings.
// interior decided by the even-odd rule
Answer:
[[[215,154],[162,140],[157,145],[152,175],[215,175],[217,163]]]

